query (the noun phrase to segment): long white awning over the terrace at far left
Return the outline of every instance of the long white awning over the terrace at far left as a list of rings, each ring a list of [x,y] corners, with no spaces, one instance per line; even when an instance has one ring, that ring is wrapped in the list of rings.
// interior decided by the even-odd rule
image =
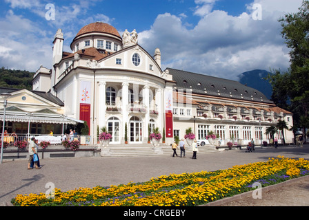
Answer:
[[[3,121],[3,114],[0,115],[0,120]],[[6,114],[6,122],[32,122],[32,123],[50,123],[50,124],[77,124],[83,123],[81,120],[74,118],[66,118],[62,115],[59,117],[44,117],[44,116],[27,116],[27,115],[8,115]]]

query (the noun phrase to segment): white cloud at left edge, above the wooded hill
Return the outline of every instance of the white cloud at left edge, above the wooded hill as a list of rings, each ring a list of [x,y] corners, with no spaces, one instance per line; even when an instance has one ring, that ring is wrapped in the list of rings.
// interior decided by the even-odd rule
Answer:
[[[0,67],[35,71],[42,63],[50,66],[51,39],[37,23],[9,10],[0,27]]]

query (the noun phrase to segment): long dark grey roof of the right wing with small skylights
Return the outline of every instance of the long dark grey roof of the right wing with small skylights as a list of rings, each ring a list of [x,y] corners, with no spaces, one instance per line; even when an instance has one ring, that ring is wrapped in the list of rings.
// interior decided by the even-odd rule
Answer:
[[[176,81],[177,90],[192,89],[192,94],[203,94],[232,98],[237,100],[248,100],[254,102],[265,102],[273,104],[266,96],[257,89],[253,89],[234,80],[217,78],[203,74],[195,74],[179,69],[167,68],[172,74],[172,80]]]

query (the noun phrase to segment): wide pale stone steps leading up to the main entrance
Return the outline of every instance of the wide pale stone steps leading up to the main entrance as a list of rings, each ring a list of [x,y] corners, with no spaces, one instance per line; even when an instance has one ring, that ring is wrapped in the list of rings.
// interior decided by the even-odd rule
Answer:
[[[102,148],[102,157],[139,157],[139,156],[172,156],[171,146],[159,146],[154,148],[150,144],[112,145]],[[215,146],[199,146],[199,154],[218,153]],[[180,149],[177,149],[180,156]],[[186,148],[186,156],[192,156],[192,148]]]

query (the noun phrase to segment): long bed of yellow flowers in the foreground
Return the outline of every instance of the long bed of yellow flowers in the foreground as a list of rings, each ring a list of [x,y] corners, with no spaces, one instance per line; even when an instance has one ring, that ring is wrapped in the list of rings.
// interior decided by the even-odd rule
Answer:
[[[283,156],[233,166],[215,172],[201,171],[163,175],[136,184],[79,188],[61,192],[55,189],[54,199],[44,193],[17,195],[14,206],[197,206],[253,190],[255,181],[264,186],[309,174],[309,161]]]

